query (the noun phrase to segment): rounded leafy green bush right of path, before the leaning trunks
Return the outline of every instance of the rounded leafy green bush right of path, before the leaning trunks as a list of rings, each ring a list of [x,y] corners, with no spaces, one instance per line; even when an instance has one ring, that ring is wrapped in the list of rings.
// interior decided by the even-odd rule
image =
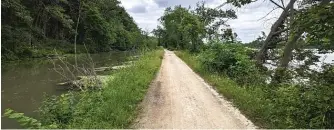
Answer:
[[[210,72],[226,74],[240,84],[263,84],[264,77],[248,56],[250,52],[239,44],[216,43],[200,53],[199,58]]]

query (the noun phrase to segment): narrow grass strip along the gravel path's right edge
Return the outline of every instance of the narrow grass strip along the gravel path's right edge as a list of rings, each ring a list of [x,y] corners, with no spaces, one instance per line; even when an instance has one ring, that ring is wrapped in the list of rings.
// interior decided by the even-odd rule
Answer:
[[[228,77],[212,74],[201,67],[196,55],[178,51],[176,55],[185,61],[195,72],[222,94],[232,101],[239,110],[259,127],[272,128],[275,124],[269,120],[270,102],[266,100],[265,92],[256,88],[238,86],[235,81]]]

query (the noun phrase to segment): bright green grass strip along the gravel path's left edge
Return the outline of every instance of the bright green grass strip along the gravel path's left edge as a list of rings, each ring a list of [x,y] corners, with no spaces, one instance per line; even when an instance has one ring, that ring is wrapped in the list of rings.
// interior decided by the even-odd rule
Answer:
[[[78,104],[82,114],[73,118],[70,128],[129,127],[137,115],[137,104],[160,67],[162,54],[163,50],[147,52],[134,66],[114,74],[105,90]]]

